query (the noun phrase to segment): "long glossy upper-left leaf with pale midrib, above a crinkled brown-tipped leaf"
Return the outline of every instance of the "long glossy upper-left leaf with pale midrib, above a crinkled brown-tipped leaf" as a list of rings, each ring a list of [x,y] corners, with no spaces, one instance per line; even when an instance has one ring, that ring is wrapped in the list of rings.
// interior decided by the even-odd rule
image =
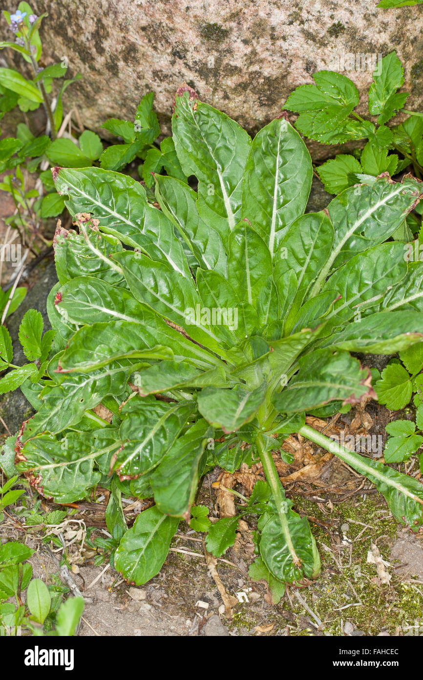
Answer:
[[[69,212],[92,213],[100,228],[123,243],[147,252],[154,260],[190,278],[181,243],[174,239],[172,224],[161,210],[147,203],[145,189],[128,175],[86,168],[53,169],[59,194],[67,194]]]

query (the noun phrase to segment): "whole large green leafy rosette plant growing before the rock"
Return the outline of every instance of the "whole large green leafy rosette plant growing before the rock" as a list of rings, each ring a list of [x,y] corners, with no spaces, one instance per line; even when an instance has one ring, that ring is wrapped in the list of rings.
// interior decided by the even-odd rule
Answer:
[[[280,591],[320,569],[272,456],[291,433],[366,475],[401,524],[423,525],[418,480],[306,424],[329,403],[375,396],[350,352],[394,354],[422,341],[423,266],[386,242],[422,184],[373,177],[304,214],[312,163],[291,124],[273,120],[252,141],[186,85],[172,139],[198,185],[155,174],[155,205],[126,175],[53,169],[77,229],[56,230],[55,336],[44,367],[22,384],[37,413],[14,443],[16,468],[57,503],[114,485],[110,517],[123,533],[114,565],[139,585],[190,520],[204,473],[216,462],[234,471],[260,461],[266,481],[242,514],[259,515],[253,572]],[[111,422],[93,410],[100,403]],[[116,490],[155,505],[127,529]],[[226,519],[206,539],[215,554],[235,537],[237,520]]]

